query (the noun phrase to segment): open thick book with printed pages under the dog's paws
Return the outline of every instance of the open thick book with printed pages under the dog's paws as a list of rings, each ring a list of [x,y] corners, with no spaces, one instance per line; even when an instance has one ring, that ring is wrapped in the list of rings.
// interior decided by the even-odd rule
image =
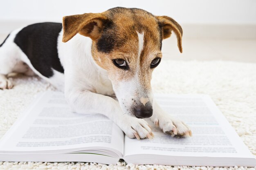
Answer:
[[[0,161],[86,161],[184,166],[256,166],[256,159],[206,95],[156,95],[167,113],[191,126],[175,138],[153,123],[153,139],[130,139],[101,114],[70,112],[61,92],[45,92],[0,141]],[[99,106],[100,107],[100,106]]]

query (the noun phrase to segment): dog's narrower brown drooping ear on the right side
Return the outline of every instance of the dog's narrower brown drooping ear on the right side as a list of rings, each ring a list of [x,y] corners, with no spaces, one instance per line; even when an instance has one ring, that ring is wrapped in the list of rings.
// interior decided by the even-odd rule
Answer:
[[[182,28],[180,24],[168,16],[156,16],[156,18],[159,20],[159,26],[162,28],[162,38],[169,38],[171,31],[173,31],[177,36],[180,53],[182,53]]]

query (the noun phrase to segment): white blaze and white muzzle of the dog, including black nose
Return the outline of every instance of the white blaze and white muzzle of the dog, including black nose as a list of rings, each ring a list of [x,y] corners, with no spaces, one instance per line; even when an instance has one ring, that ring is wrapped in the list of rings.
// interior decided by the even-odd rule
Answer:
[[[153,95],[151,88],[145,88],[146,77],[141,73],[142,51],[144,50],[144,32],[137,32],[137,60],[134,60],[133,77],[113,84],[120,106],[126,113],[138,118],[146,118],[152,115]],[[130,64],[130,63],[129,63]],[[150,63],[149,63],[150,64]],[[149,65],[148,65],[149,67]]]

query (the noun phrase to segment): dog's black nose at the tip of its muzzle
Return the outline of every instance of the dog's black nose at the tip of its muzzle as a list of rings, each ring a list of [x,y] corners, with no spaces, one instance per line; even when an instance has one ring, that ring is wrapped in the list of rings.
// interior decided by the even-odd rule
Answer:
[[[145,106],[143,104],[135,106],[134,115],[139,119],[151,117],[153,115],[153,107],[149,103],[146,103]]]

